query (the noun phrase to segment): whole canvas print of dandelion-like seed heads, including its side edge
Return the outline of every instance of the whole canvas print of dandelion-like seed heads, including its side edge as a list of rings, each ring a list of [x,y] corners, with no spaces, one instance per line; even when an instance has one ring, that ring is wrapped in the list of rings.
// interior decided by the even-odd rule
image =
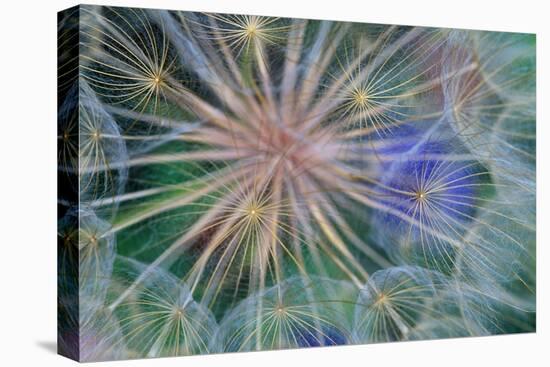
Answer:
[[[58,32],[60,354],[535,331],[535,35],[91,5]]]

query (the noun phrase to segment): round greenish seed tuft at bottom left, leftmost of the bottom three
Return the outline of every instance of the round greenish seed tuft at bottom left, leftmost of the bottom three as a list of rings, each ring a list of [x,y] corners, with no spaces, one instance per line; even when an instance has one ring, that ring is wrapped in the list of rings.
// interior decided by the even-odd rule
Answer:
[[[124,272],[139,274],[143,264],[120,259]],[[115,274],[124,286],[123,274]],[[172,274],[155,270],[147,281],[115,309],[124,342],[137,356],[175,356],[209,352],[208,341],[216,328],[211,313],[197,304],[189,288]],[[149,325],[144,328],[143,325]]]

